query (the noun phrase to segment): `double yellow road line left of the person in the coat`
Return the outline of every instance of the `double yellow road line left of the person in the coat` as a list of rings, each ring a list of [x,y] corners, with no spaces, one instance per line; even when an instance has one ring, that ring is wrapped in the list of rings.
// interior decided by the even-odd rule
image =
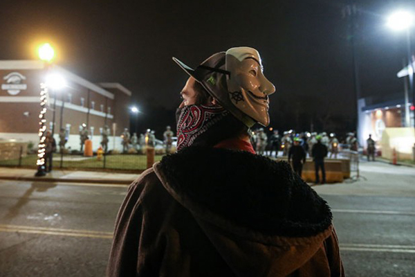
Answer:
[[[112,239],[112,232],[102,231],[89,231],[89,230],[77,230],[77,229],[59,229],[50,227],[35,227],[35,226],[21,226],[0,224],[0,231],[2,232],[17,232],[17,233],[35,233],[41,235],[66,235],[71,237],[84,237],[84,238],[105,238]]]

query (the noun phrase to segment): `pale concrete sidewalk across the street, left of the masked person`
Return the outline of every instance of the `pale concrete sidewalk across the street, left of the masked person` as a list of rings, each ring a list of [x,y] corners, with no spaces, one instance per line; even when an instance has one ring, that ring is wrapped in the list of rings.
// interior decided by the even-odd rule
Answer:
[[[131,184],[140,173],[111,173],[94,171],[53,170],[43,177],[35,177],[35,169],[1,168],[0,180],[15,181],[51,181],[69,183],[96,183],[96,184]]]

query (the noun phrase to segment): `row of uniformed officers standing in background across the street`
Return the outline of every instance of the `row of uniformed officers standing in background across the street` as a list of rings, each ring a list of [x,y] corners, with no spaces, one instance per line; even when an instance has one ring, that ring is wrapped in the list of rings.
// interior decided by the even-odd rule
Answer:
[[[111,135],[111,129],[108,125],[104,125],[102,128],[102,140],[101,145],[104,152],[108,151],[109,136]],[[89,139],[89,132],[86,128],[86,125],[82,125],[80,130],[80,151],[82,152],[84,148],[85,141]],[[133,133],[131,136],[129,129],[125,128],[124,132],[121,134],[121,144],[122,152],[127,153],[131,148],[134,150],[142,150],[145,147],[154,148],[156,145],[156,136],[155,131],[147,129],[144,134],[137,136],[136,133]],[[174,132],[170,126],[167,126],[165,132],[163,133],[163,145],[165,148],[166,154],[172,152],[172,144],[174,141]],[[61,129],[59,132],[59,148],[62,150],[65,148],[67,142],[65,129]],[[293,168],[296,172],[301,173],[302,166],[299,166],[301,161],[304,161],[308,157],[313,157],[315,160],[315,154],[313,154],[314,146],[317,143],[321,143],[326,148],[326,154],[324,157],[330,153],[330,159],[334,157],[337,159],[340,141],[337,139],[334,133],[327,135],[326,132],[317,134],[317,132],[303,132],[296,134],[293,130],[285,131],[283,136],[279,135],[278,130],[274,130],[273,134],[268,136],[264,131],[264,128],[256,129],[252,131],[251,143],[257,154],[265,155],[268,157],[278,157],[279,151],[282,151],[282,156],[288,156],[288,161],[291,161],[293,157]],[[375,141],[371,139],[369,134],[369,139],[367,139],[367,160],[375,160]],[[295,147],[294,147],[295,146]],[[301,148],[298,148],[299,146]],[[343,147],[348,148],[351,151],[358,151],[358,140],[356,135],[353,132],[347,133],[347,137],[343,143]],[[320,146],[317,149],[321,148]],[[319,151],[317,151],[319,152]],[[319,156],[317,154],[317,156]],[[324,172],[324,163],[322,163],[322,171]],[[300,175],[301,176],[301,175]],[[323,177],[324,179],[324,177]]]

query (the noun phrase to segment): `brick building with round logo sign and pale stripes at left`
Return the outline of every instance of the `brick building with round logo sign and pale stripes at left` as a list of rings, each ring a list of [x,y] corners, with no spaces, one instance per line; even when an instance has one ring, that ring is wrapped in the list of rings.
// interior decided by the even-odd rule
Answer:
[[[40,83],[48,74],[59,74],[66,81],[62,89],[50,89],[46,120],[53,127],[55,109],[55,139],[59,129],[66,130],[66,148],[80,149],[80,128],[86,124],[96,150],[104,125],[111,129],[109,149],[120,149],[124,128],[129,127],[131,91],[118,83],[93,84],[59,66],[47,69],[37,60],[0,61],[0,139],[33,142],[39,137]],[[62,114],[62,120],[61,120]]]

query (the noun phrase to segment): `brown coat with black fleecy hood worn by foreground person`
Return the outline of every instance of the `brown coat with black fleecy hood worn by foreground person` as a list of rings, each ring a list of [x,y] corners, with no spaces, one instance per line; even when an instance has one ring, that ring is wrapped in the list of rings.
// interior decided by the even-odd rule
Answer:
[[[344,271],[329,207],[288,163],[190,148],[165,157],[129,187],[107,275],[344,276]]]

